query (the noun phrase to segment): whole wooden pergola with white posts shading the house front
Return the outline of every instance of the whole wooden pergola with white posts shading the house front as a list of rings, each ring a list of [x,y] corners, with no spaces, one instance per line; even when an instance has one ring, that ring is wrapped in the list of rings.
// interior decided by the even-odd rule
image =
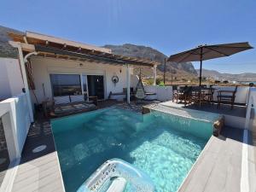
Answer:
[[[127,87],[130,87],[130,66],[151,67],[154,69],[154,84],[156,83],[156,67],[159,62],[133,58],[124,55],[114,55],[111,49],[55,38],[36,32],[9,33],[13,47],[18,49],[20,69],[23,76],[28,102],[31,103],[26,74],[27,58],[31,55],[45,58],[66,59],[73,61],[90,61],[108,65],[126,66]],[[127,102],[130,103],[130,89],[127,89]],[[30,107],[32,116],[32,106]]]

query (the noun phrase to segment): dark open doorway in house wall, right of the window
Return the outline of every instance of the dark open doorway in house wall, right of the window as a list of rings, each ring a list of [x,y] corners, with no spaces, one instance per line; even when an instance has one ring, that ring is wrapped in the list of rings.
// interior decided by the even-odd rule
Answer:
[[[87,75],[89,96],[104,99],[104,79],[102,75]]]

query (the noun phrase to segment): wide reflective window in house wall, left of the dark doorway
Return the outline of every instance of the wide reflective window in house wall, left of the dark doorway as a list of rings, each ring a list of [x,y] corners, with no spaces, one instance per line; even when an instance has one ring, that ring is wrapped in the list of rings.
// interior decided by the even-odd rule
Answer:
[[[54,96],[81,95],[81,81],[79,74],[50,74]]]

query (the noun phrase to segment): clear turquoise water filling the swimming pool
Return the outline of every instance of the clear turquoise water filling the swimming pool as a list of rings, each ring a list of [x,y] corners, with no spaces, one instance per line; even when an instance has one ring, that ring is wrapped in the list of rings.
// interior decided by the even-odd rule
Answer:
[[[120,108],[53,119],[51,125],[67,192],[112,158],[146,172],[157,192],[175,192],[212,135],[207,122]]]

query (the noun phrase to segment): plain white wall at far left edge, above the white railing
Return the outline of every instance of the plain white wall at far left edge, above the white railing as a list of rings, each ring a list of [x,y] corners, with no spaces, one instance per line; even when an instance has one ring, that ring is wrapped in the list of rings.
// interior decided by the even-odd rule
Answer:
[[[19,61],[0,58],[0,100],[20,94],[23,87]]]

